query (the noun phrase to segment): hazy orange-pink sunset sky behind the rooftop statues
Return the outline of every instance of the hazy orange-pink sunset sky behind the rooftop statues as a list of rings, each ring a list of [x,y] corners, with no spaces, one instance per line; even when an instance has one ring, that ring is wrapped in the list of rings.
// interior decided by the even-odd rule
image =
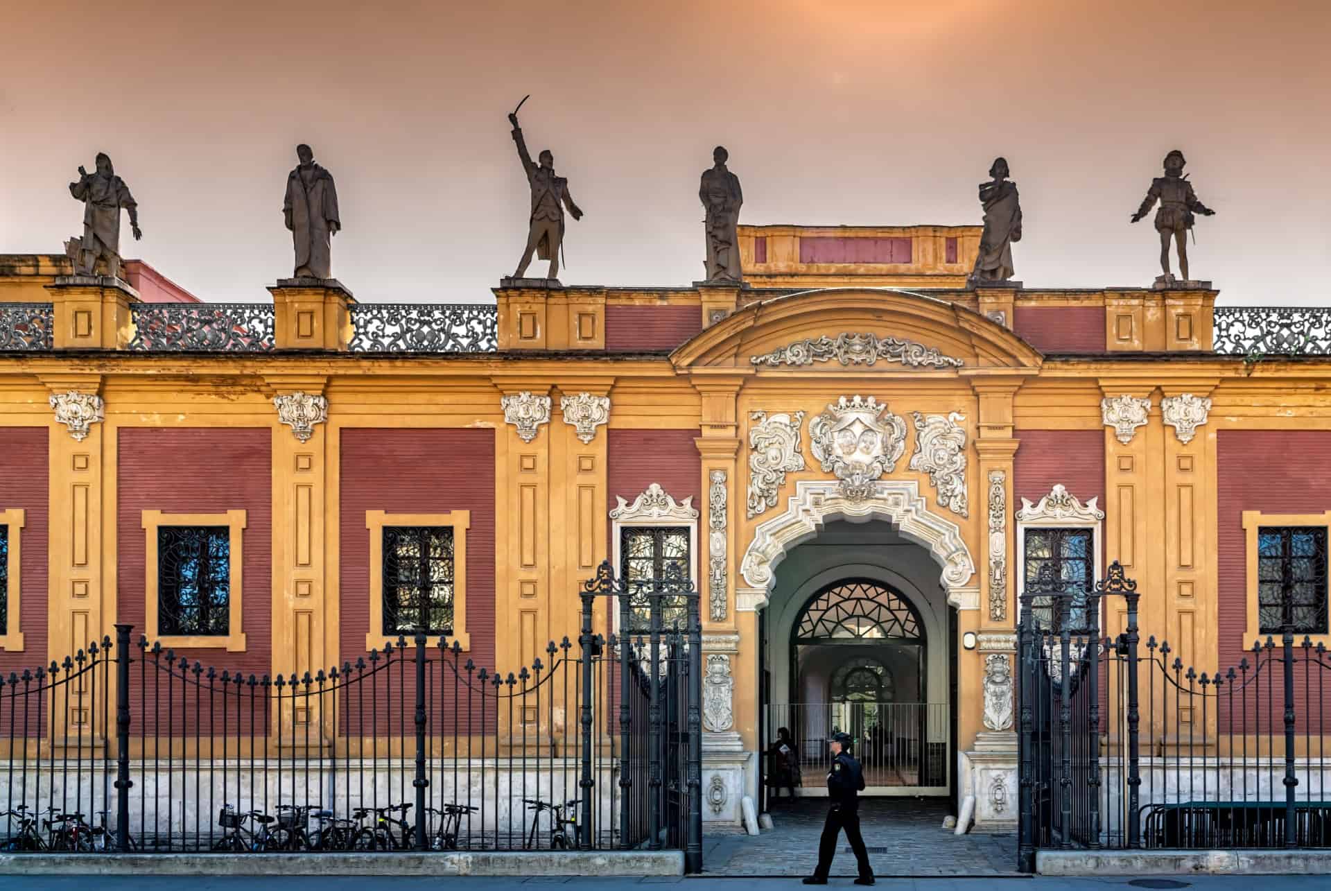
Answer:
[[[185,4],[9,0],[0,253],[61,253],[108,152],[142,257],[204,300],[291,273],[294,145],[337,178],[333,273],[362,301],[491,300],[526,237],[506,115],[586,212],[566,284],[701,277],[697,177],[741,222],[976,224],[1008,157],[1030,288],[1149,285],[1129,225],[1181,148],[1193,274],[1222,304],[1331,298],[1331,3],[764,0]],[[543,272],[540,264],[534,273]]]

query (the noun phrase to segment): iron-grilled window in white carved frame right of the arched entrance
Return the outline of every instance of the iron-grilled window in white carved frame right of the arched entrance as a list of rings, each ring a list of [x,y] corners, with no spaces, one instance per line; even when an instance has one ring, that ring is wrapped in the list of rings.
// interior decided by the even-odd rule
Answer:
[[[1050,589],[1070,593],[1058,609],[1055,595],[1036,595],[1030,609],[1036,625],[1059,631],[1067,625],[1073,631],[1086,627],[1086,598],[1095,583],[1095,549],[1090,529],[1026,527],[1026,553],[1022,555],[1028,591]],[[1061,614],[1061,615],[1059,615]]]

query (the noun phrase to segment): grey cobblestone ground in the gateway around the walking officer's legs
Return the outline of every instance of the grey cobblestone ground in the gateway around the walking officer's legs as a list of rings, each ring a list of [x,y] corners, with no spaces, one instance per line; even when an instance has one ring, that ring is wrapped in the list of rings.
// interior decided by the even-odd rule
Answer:
[[[938,799],[864,799],[860,830],[877,876],[1017,875],[1017,836],[942,828],[946,803]],[[819,836],[827,799],[772,802],[775,828],[761,835],[703,836],[703,870],[708,875],[811,875],[819,862]],[[843,835],[832,860],[833,876],[855,876],[855,855]]]

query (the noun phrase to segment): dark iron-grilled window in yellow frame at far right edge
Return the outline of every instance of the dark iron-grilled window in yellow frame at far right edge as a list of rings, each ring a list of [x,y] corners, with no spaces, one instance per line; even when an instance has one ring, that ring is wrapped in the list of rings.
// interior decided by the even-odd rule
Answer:
[[[1326,526],[1262,526],[1256,554],[1258,630],[1326,634]]]

